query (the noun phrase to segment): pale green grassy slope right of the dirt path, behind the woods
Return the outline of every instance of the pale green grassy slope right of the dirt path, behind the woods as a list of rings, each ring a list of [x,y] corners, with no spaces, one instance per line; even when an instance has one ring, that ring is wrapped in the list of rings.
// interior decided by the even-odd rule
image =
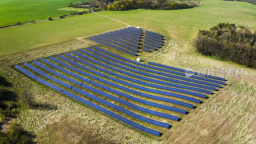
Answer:
[[[236,23],[250,29],[256,28],[256,5],[235,1],[204,0],[200,7],[183,10],[100,13],[129,25],[145,27],[180,40],[190,40],[198,29],[209,29],[222,22]]]

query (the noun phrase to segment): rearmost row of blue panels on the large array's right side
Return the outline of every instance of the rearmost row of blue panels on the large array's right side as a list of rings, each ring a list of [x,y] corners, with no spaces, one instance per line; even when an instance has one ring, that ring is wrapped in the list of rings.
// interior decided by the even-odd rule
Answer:
[[[174,68],[174,67],[171,67],[171,66],[166,66],[166,65],[162,65],[162,64],[158,64],[158,63],[154,63],[154,62],[148,62],[148,64],[155,65],[155,66],[158,66],[158,67],[163,67],[163,68],[169,68],[169,69],[181,71],[181,72],[184,72],[184,73],[185,72],[194,73],[194,75],[197,75],[197,76],[203,76],[203,77],[208,77],[208,78],[212,78],[212,79],[217,79],[217,80],[220,80],[220,81],[225,81],[225,78],[221,78],[221,77],[217,77],[217,76],[211,76],[211,75],[205,75],[205,74],[192,72],[192,71],[186,71],[185,69]]]

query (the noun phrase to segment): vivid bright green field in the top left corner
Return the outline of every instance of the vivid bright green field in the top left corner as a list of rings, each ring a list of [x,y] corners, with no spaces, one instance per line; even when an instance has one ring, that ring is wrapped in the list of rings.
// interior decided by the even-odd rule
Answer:
[[[0,0],[0,27],[15,24],[17,21],[23,23],[45,20],[47,16],[54,18],[69,14],[67,10],[58,11],[65,8],[69,2],[75,0]]]

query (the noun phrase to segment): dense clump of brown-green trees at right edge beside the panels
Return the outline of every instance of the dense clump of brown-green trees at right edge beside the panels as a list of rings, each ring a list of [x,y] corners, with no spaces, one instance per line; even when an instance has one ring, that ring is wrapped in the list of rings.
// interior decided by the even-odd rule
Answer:
[[[199,30],[194,39],[197,52],[256,68],[256,31],[235,24],[219,23]]]

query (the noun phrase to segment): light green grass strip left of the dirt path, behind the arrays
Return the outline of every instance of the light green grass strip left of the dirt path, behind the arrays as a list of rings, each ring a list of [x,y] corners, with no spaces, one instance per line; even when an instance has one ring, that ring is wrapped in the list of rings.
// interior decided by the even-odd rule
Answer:
[[[0,56],[60,44],[126,25],[95,13],[0,29]]]

